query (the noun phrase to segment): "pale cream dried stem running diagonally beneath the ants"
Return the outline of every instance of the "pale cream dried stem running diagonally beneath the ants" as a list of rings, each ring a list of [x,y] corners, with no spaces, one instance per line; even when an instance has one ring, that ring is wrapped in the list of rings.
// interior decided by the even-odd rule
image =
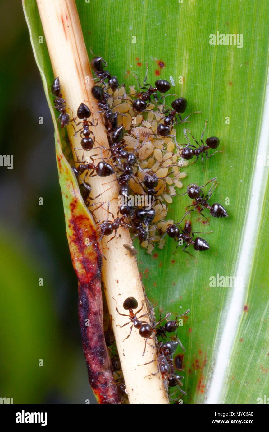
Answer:
[[[75,114],[81,102],[89,101],[86,104],[89,105],[91,111],[98,111],[98,106],[90,92],[93,85],[93,81],[91,81],[92,73],[75,2],[73,0],[37,0],[37,4],[54,76],[60,77],[63,97],[67,102],[67,107],[71,108]],[[72,148],[81,148],[80,138],[73,136],[72,127],[69,127],[68,132]],[[99,121],[98,127],[94,128],[94,133],[96,141],[102,146],[108,147],[102,121]],[[76,160],[76,154],[79,158],[82,157],[81,150],[76,152],[73,150],[74,160]],[[96,153],[99,153],[99,151],[92,150],[92,154]],[[114,179],[114,176],[108,178],[96,176],[90,179],[92,197],[111,187],[98,199],[105,203],[104,208],[100,207],[95,211],[96,218],[101,221],[107,217],[106,206],[108,201],[110,201],[110,211],[114,216],[117,215],[117,181],[108,183]],[[156,372],[157,362],[139,366],[156,357],[156,349],[147,345],[146,354],[142,357],[144,339],[139,336],[136,329],[133,329],[130,338],[123,342],[123,339],[129,334],[130,327],[120,328],[119,326],[127,322],[129,318],[117,314],[114,299],[117,300],[117,306],[122,313],[125,312],[122,307],[123,301],[130,295],[138,300],[139,305],[143,302],[144,306],[141,314],[148,311],[136,258],[131,257],[129,251],[123,246],[124,244],[130,244],[130,234],[128,230],[123,228],[118,230],[118,234],[120,234],[120,237],[114,238],[108,245],[108,238],[104,238],[101,242],[106,257],[106,260],[103,260],[102,279],[129,401],[135,404],[166,404],[168,403],[168,397],[165,393],[161,375],[153,375],[144,379],[146,375]]]

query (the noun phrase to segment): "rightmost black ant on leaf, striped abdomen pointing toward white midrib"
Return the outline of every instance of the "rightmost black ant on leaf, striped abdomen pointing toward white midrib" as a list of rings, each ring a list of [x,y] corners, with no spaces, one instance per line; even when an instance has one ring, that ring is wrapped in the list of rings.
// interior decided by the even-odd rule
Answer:
[[[199,213],[208,221],[206,216],[203,215],[202,211],[207,208],[210,211],[211,216],[213,217],[228,217],[228,213],[226,212],[225,208],[219,204],[219,203],[213,203],[212,206],[209,204],[209,199],[211,198],[214,190],[216,187],[218,187],[218,183],[216,182],[217,178],[214,177],[212,180],[209,180],[206,184],[203,186],[198,186],[197,184],[189,184],[187,187],[187,192],[185,194],[178,194],[178,195],[188,195],[188,197],[195,200],[194,204],[191,204],[190,206],[194,206],[193,210],[198,209],[199,206],[202,207],[201,210],[199,210]],[[209,192],[206,196],[204,196],[203,191],[201,190],[202,187],[205,187],[207,184],[211,183],[213,181],[212,186],[209,189]],[[172,195],[174,196],[174,195]],[[189,206],[189,207],[190,207]],[[188,213],[188,212],[187,212]],[[186,213],[186,214],[187,214]],[[186,215],[185,215],[186,216]]]

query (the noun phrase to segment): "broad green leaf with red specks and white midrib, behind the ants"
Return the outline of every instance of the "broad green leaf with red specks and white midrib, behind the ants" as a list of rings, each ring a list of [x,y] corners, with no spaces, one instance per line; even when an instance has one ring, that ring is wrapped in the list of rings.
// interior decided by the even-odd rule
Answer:
[[[30,27],[39,26],[35,2],[26,4],[32,11]],[[174,241],[167,239],[165,248],[152,255],[137,245],[138,263],[157,317],[158,308],[174,314],[190,308],[178,331],[186,348],[184,402],[257,403],[269,381],[268,167],[257,159],[268,152],[264,103],[269,3],[215,0],[209,7],[205,1],[81,0],[77,7],[90,57],[92,48],[127,88],[136,84],[133,73],[143,81],[148,62],[149,83],[156,76],[172,77],[172,92],[188,100],[186,113],[202,111],[191,118],[194,136],[199,140],[208,119],[205,137],[220,138],[222,154],[206,161],[205,172],[200,160],[186,167],[182,189],[218,178],[210,202],[222,203],[229,218],[210,217],[208,226],[197,213],[192,215],[195,231],[214,231],[201,235],[209,242],[209,251],[194,252],[195,262],[180,247],[175,252]],[[242,34],[242,48],[209,44],[210,35],[217,32]],[[44,48],[37,47],[51,82]],[[182,125],[177,126],[177,141],[186,142]],[[169,218],[179,221],[189,204],[188,197],[175,197]],[[211,287],[217,274],[225,279],[243,276],[242,285]]]

